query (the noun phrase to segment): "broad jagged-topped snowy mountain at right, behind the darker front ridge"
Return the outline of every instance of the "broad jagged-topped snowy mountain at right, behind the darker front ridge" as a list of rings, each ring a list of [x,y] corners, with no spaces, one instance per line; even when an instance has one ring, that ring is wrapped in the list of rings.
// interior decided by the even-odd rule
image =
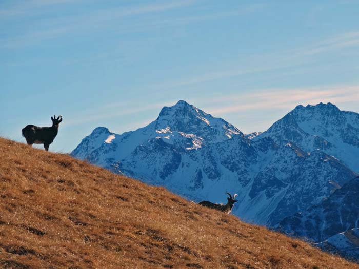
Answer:
[[[359,172],[359,114],[331,103],[299,105],[253,140],[263,137],[278,144],[291,141],[305,152],[324,151]]]

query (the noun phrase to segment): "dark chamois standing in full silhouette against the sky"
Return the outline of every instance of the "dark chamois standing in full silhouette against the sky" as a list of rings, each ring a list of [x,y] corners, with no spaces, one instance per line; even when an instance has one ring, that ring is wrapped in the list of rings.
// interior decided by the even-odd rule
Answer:
[[[26,139],[28,145],[32,144],[44,144],[46,151],[49,151],[49,146],[52,141],[55,139],[58,132],[58,125],[63,121],[62,116],[51,117],[52,126],[51,127],[38,127],[34,125],[26,126],[23,131],[23,136]]]

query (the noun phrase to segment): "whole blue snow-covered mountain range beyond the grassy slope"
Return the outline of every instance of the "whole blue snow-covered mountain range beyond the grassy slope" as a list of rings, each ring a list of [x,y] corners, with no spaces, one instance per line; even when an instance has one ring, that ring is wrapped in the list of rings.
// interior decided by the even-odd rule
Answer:
[[[293,224],[299,218],[293,214],[310,215],[359,172],[359,114],[330,103],[297,106],[266,132],[245,135],[178,101],[136,131],[94,129],[71,155],[194,201],[225,202],[224,192],[238,193],[235,215],[316,242],[357,227],[357,208],[356,217],[333,233],[321,232],[326,225],[331,230],[331,220],[318,220],[323,226],[314,225],[313,233]]]

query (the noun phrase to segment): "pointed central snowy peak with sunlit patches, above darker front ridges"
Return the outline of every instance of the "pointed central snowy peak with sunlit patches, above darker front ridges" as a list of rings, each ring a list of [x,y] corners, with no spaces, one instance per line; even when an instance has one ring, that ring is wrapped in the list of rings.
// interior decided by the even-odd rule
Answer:
[[[192,150],[202,148],[203,143],[224,141],[233,135],[244,136],[227,121],[181,100],[173,107],[164,107],[156,120],[134,132],[117,135],[107,128],[97,127],[71,154],[105,165],[111,164],[109,156],[122,160],[149,139],[161,139],[173,147]]]

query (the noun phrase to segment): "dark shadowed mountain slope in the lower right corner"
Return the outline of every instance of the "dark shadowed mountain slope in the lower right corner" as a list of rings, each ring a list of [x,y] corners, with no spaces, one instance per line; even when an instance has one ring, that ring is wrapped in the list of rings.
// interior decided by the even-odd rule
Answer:
[[[280,231],[319,242],[326,250],[359,259],[359,177],[302,213],[284,218]]]

